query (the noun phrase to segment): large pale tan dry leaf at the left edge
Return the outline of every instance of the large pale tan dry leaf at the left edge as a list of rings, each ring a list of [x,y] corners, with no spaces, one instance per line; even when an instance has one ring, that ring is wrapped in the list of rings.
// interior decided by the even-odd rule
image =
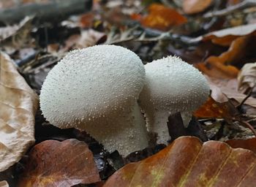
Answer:
[[[0,52],[0,172],[15,164],[34,143],[38,96]]]

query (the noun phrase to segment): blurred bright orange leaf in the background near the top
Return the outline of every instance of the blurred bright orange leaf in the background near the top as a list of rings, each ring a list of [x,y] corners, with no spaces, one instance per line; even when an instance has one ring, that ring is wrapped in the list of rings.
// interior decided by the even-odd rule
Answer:
[[[175,9],[165,7],[161,4],[151,4],[148,7],[148,12],[149,14],[140,21],[145,27],[167,31],[172,26],[187,23],[187,18]]]

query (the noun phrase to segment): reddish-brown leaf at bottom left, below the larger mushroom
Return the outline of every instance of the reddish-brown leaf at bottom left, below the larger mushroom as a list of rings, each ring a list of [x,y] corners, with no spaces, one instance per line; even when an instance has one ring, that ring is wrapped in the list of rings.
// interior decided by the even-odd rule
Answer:
[[[88,145],[75,139],[46,140],[29,153],[18,186],[74,186],[100,180]]]

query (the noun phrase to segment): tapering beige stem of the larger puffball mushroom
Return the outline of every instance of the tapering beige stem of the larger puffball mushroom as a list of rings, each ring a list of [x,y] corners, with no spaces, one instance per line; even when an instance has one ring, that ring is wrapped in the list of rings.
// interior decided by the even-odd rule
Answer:
[[[91,121],[94,126],[86,123],[86,132],[102,143],[106,150],[118,150],[122,156],[127,156],[148,146],[146,124],[137,102],[131,108],[119,110],[118,114],[109,117]]]

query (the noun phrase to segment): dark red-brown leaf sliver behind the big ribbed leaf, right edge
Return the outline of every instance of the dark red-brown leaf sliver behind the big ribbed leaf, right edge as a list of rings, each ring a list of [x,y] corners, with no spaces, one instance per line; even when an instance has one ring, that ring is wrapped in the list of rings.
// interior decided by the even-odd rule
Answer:
[[[248,150],[252,150],[256,153],[256,137],[249,138],[249,139],[233,139],[227,140],[226,143],[230,145],[232,148],[244,148]]]

